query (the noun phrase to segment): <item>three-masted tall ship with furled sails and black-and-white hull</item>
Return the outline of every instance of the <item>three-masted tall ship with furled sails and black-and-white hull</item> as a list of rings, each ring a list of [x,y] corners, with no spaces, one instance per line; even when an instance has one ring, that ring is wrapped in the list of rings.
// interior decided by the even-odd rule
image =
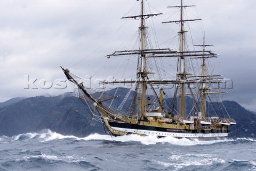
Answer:
[[[91,108],[86,108],[86,112],[99,119],[111,135],[139,134],[202,140],[225,138],[230,133],[229,127],[236,122],[230,118],[222,102],[216,100],[227,93],[219,89],[225,78],[209,69],[211,60],[218,55],[207,50],[210,45],[205,44],[204,36],[201,45],[189,48],[187,41],[185,25],[201,20],[185,18],[186,8],[194,5],[185,5],[180,0],[179,5],[168,6],[179,11],[178,20],[161,23],[179,26],[177,49],[174,50],[152,46],[147,21],[162,13],[147,13],[146,1],[137,1],[138,14],[122,18],[138,20],[137,48],[107,55],[107,60],[113,62],[116,57],[127,61],[131,59],[134,71],[125,67],[124,73],[133,74],[133,78],[102,80],[99,82],[101,86],[115,86],[115,89],[102,91],[87,87],[83,79],[61,67],[67,79],[77,87],[78,98]]]

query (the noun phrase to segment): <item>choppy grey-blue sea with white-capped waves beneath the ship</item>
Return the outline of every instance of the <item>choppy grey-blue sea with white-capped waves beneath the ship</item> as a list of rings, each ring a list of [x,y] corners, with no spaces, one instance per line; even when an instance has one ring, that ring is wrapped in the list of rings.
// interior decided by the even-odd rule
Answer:
[[[51,130],[0,136],[0,170],[256,170],[256,141],[198,140]]]

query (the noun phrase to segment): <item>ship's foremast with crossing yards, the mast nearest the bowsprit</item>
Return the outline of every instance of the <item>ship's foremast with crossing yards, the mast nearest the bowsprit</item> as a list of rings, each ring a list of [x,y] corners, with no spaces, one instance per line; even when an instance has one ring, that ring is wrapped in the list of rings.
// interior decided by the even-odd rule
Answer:
[[[170,49],[147,49],[147,40],[146,40],[146,29],[147,26],[145,24],[145,20],[150,18],[151,16],[161,15],[162,13],[156,13],[156,14],[145,14],[145,4],[144,0],[141,0],[140,3],[140,15],[134,15],[134,16],[126,16],[122,19],[135,19],[140,20],[140,27],[139,27],[139,33],[140,33],[140,46],[138,50],[123,50],[119,52],[115,52],[111,55],[107,55],[108,58],[110,56],[125,56],[125,55],[138,55],[138,65],[137,65],[137,81],[136,83],[136,95],[135,100],[137,101],[137,106],[139,108],[138,110],[138,119],[145,119],[146,118],[146,106],[150,105],[146,101],[146,91],[147,91],[147,80],[148,80],[148,69],[147,69],[147,55],[148,54],[159,54],[159,53],[173,53]],[[104,82],[102,82],[104,83]],[[126,81],[124,81],[126,83]]]

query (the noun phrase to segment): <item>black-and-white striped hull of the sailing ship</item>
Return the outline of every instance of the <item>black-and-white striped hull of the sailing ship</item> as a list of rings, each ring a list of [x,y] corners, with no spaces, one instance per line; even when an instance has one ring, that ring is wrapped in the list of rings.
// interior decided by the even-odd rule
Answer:
[[[125,123],[108,120],[107,125],[109,131],[113,135],[115,131],[123,132],[124,134],[139,134],[139,135],[156,135],[158,138],[171,136],[174,138],[188,138],[188,139],[199,139],[199,140],[221,140],[228,136],[229,130],[190,130],[190,129],[173,129],[168,127],[159,126],[148,126],[145,125],[145,121],[140,123]],[[106,121],[105,121],[106,124]],[[113,131],[115,130],[115,131]]]

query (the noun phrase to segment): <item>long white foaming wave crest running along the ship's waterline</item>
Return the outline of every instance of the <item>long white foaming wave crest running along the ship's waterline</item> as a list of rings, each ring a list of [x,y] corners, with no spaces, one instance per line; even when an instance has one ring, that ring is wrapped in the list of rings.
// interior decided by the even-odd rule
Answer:
[[[0,139],[3,136],[0,137]],[[11,141],[26,141],[30,139],[38,139],[42,142],[61,140],[61,139],[75,139],[75,140],[84,140],[84,141],[111,141],[111,142],[139,142],[145,145],[151,144],[173,144],[177,146],[196,146],[196,145],[207,145],[214,143],[250,143],[256,142],[256,140],[250,138],[238,138],[238,139],[224,139],[224,140],[214,140],[214,141],[200,141],[198,139],[190,140],[187,138],[177,139],[174,137],[165,137],[157,138],[154,135],[140,136],[137,134],[129,134],[123,136],[110,136],[110,135],[101,135],[101,134],[91,134],[84,138],[78,138],[74,135],[62,135],[51,130],[43,130],[41,132],[34,133],[24,133],[12,136]]]

